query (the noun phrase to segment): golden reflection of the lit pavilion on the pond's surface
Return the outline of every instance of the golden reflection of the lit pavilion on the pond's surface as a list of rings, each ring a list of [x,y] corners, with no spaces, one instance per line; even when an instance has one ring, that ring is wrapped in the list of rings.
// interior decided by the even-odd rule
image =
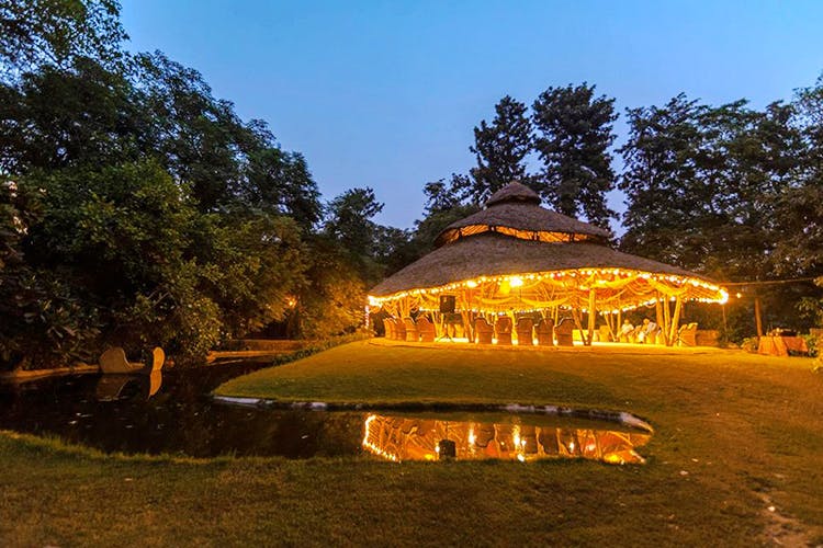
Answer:
[[[617,429],[617,425],[616,430],[593,430],[371,414],[365,419],[362,445],[393,461],[453,456],[459,460],[587,458],[619,465],[644,463],[634,447],[645,445],[651,434]],[[452,455],[444,455],[443,448]]]

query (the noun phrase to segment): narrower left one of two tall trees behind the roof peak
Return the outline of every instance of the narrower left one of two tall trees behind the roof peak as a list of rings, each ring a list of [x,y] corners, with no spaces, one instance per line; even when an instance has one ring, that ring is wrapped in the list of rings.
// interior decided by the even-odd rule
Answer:
[[[495,105],[491,125],[481,121],[474,128],[474,152],[477,165],[472,168],[472,199],[483,203],[512,181],[526,182],[526,157],[531,152],[531,122],[526,104],[509,95]]]

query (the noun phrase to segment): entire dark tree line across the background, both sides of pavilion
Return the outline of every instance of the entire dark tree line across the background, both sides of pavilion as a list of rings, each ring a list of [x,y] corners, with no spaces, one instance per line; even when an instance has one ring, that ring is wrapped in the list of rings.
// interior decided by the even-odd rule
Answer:
[[[124,37],[112,0],[0,0],[4,366],[109,344],[196,361],[272,324],[351,331],[368,287],[512,180],[604,227],[617,185],[623,250],[722,282],[823,276],[823,80],[763,110],[686,95],[630,109],[618,150],[615,100],[594,85],[548,88],[530,107],[505,96],[474,128],[476,164],[427,183],[403,230],[372,220],[368,186],[324,203],[264,122],[159,52],[124,53]],[[823,320],[810,284],[757,292],[768,321]],[[730,309],[735,336],[751,333],[746,302]]]

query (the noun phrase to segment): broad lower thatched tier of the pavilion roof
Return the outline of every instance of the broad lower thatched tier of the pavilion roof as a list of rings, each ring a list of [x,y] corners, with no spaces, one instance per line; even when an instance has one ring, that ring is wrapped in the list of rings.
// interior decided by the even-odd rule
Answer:
[[[621,269],[710,282],[677,266],[622,253],[607,246],[590,242],[544,243],[487,232],[461,238],[436,249],[384,279],[369,294],[385,297],[481,276],[575,269]]]

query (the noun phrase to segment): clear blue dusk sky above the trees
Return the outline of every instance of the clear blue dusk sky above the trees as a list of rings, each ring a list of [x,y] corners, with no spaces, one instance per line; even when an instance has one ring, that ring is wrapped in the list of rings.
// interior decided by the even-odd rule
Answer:
[[[371,186],[409,228],[428,181],[466,172],[473,127],[587,81],[625,107],[679,92],[755,106],[823,71],[823,1],[123,0],[129,49],[198,69],[305,155],[325,199]],[[618,141],[625,127],[616,129]],[[610,196],[622,209],[622,196]],[[616,227],[618,228],[618,227]],[[619,231],[619,230],[618,230]]]

